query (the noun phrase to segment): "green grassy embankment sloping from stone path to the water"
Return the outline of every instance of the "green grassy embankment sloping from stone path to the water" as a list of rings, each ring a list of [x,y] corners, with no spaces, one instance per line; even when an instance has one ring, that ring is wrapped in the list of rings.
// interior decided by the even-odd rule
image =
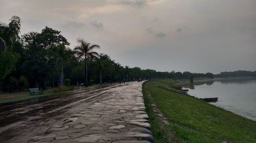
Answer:
[[[172,89],[175,83],[174,80],[143,83],[146,111],[155,142],[256,142],[256,122],[197,98],[156,87],[164,84]],[[169,125],[153,111],[152,103],[158,106]]]

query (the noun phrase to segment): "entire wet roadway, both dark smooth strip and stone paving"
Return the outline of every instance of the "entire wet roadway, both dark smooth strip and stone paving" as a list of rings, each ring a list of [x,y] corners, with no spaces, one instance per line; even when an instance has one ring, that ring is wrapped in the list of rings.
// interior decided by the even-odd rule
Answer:
[[[154,141],[141,82],[33,100],[0,107],[1,142]]]

